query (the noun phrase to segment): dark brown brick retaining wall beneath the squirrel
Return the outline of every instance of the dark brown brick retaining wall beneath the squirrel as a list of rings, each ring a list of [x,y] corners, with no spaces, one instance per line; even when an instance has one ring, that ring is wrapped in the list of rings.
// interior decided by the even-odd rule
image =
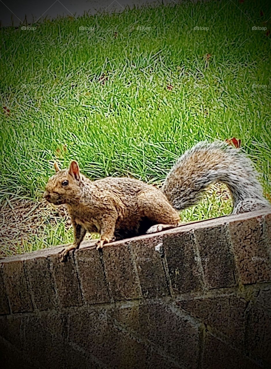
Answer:
[[[4,368],[270,368],[271,214],[2,260]]]

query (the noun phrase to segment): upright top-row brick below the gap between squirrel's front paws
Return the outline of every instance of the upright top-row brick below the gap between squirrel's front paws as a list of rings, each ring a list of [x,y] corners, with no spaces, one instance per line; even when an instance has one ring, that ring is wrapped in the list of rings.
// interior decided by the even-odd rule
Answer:
[[[109,302],[100,253],[96,249],[79,249],[75,258],[85,300],[91,304]]]

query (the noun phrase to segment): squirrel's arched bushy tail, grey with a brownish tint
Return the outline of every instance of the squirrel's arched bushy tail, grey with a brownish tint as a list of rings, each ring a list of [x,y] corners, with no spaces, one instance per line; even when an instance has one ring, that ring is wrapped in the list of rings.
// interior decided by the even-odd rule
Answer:
[[[223,182],[231,192],[233,213],[238,213],[243,200],[263,204],[260,207],[268,204],[256,176],[251,160],[239,149],[222,141],[202,141],[178,159],[161,190],[174,208],[182,210],[198,203],[210,184]]]

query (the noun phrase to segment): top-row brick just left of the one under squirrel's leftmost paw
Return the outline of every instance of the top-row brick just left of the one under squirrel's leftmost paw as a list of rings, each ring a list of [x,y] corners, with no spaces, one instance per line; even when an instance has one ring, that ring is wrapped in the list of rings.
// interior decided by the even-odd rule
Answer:
[[[24,261],[25,270],[30,282],[32,299],[38,310],[56,307],[54,279],[51,275],[48,258],[29,258]]]

